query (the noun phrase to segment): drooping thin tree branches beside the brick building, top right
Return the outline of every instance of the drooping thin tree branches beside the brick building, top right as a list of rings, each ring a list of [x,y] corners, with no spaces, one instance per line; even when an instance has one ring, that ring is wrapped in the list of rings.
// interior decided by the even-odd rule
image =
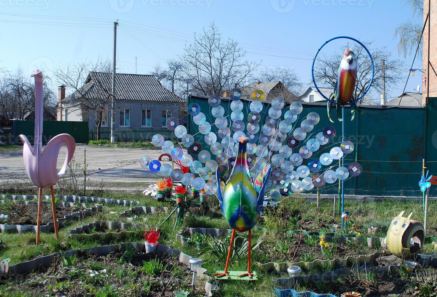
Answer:
[[[420,37],[423,27],[423,0],[404,0],[404,3],[413,10],[413,20],[407,20],[395,28],[394,38],[399,39],[397,46],[398,53],[406,58],[407,55],[414,52],[420,41],[418,55],[421,57],[423,42]]]

